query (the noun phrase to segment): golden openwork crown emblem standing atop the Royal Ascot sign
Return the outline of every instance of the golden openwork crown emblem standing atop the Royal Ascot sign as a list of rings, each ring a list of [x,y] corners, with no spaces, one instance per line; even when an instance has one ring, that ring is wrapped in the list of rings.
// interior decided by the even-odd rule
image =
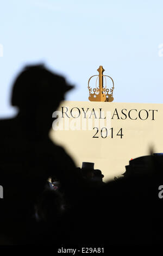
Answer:
[[[99,68],[97,69],[97,71],[99,72],[99,75],[94,75],[97,76],[96,79],[96,88],[93,88],[93,93],[92,93],[92,88],[90,87],[90,80],[92,77],[91,76],[89,81],[88,81],[88,87],[89,88],[89,100],[90,101],[108,101],[111,102],[114,100],[114,97],[112,97],[112,93],[114,90],[114,81],[112,80],[112,78],[110,76],[106,76],[103,75],[103,72],[105,71],[103,69],[103,66],[99,66]],[[103,87],[103,77],[105,78],[105,87]],[[110,94],[109,94],[109,89],[106,88],[106,77],[109,77],[112,81],[113,86],[110,88]],[[99,85],[97,87],[97,80],[99,82]]]

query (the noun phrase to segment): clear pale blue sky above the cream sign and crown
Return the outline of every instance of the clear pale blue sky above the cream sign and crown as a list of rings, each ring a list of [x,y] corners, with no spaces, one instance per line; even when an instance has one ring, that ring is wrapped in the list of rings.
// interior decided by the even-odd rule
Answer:
[[[87,81],[103,65],[115,102],[163,103],[162,9],[162,0],[1,0],[0,117],[14,113],[17,72],[39,62],[76,84],[67,100],[87,101]]]

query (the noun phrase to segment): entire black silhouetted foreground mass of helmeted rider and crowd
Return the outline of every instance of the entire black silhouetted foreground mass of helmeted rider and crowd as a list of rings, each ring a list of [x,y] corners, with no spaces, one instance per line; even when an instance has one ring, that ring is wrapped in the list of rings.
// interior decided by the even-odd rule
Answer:
[[[28,66],[14,82],[18,114],[0,121],[1,245],[161,243],[162,156],[132,160],[124,178],[104,184],[100,170],[76,168],[49,139],[52,113],[71,88],[42,65]]]

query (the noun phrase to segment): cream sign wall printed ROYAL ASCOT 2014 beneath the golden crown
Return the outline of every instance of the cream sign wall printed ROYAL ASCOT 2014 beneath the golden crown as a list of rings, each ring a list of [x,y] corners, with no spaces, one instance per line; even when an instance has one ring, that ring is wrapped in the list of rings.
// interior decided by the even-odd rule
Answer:
[[[64,101],[50,133],[78,167],[95,162],[104,181],[125,172],[131,158],[163,152],[163,105]]]

